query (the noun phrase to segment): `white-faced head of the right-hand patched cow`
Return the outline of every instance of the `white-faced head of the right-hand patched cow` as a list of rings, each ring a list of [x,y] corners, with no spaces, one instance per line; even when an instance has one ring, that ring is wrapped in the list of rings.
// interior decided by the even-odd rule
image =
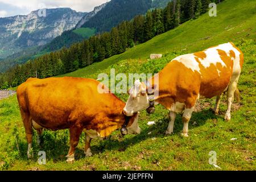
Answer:
[[[130,97],[126,102],[123,113],[127,116],[131,116],[134,113],[138,113],[143,109],[147,109],[148,113],[154,112],[154,98],[152,99],[150,94],[147,93],[147,86],[144,82],[136,80],[133,88],[129,91]]]

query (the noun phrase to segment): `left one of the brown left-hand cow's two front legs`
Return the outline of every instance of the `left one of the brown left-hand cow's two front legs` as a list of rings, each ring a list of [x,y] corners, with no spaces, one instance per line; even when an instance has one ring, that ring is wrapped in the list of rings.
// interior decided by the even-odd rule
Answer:
[[[82,129],[78,127],[71,127],[69,129],[70,133],[70,142],[69,142],[69,152],[67,155],[67,162],[72,163],[75,162],[75,149],[76,146],[79,144],[79,138],[82,133]]]

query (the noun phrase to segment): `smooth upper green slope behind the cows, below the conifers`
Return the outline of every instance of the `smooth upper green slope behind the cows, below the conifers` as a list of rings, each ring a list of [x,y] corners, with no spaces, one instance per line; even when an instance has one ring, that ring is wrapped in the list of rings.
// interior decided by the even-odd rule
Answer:
[[[208,14],[202,15],[199,19],[190,20],[121,55],[110,57],[101,63],[95,63],[63,76],[88,77],[121,60],[146,60],[151,53],[165,54],[173,51],[188,53],[221,43],[235,42],[239,38],[254,39],[256,38],[255,22],[255,1],[226,0],[217,6],[216,17],[210,17]]]

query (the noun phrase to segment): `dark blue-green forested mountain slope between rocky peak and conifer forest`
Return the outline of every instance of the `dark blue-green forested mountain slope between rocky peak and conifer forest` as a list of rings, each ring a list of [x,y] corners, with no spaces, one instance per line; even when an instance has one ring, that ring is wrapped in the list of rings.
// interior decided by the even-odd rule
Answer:
[[[135,15],[145,14],[148,9],[155,7],[165,7],[171,0],[112,0],[94,8],[90,13],[85,14],[72,30],[64,31],[63,34],[57,36],[51,42],[44,46],[33,47],[20,51],[6,57],[1,61],[0,48],[0,72],[6,71],[16,63],[25,63],[29,59],[33,59],[37,55],[43,55],[46,52],[56,51],[62,47],[70,47],[73,43],[80,42],[98,32],[95,27],[85,27],[86,23],[92,23],[90,19],[94,18],[99,27],[110,30],[123,20],[130,20]],[[112,12],[111,12],[112,11]],[[100,15],[98,15],[100,14]],[[103,17],[103,19],[101,19]],[[105,17],[108,17],[106,19]],[[3,54],[3,52],[2,52]]]

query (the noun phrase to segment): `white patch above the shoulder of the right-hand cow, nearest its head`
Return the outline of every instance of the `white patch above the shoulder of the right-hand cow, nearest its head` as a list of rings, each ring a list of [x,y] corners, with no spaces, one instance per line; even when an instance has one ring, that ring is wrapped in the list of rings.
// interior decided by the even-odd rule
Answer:
[[[193,72],[197,71],[200,73],[199,63],[197,63],[195,56],[192,53],[178,56],[174,60],[178,61],[179,63],[182,63],[188,69],[192,69]]]

